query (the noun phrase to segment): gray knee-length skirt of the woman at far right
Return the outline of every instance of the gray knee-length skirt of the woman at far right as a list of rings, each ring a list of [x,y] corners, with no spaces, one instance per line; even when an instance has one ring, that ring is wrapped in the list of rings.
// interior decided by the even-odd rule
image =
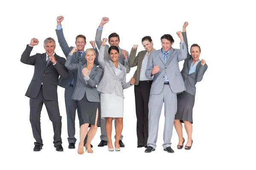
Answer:
[[[193,107],[195,104],[195,96],[183,91],[177,94],[177,113],[175,119],[180,122],[188,121],[193,123]]]

